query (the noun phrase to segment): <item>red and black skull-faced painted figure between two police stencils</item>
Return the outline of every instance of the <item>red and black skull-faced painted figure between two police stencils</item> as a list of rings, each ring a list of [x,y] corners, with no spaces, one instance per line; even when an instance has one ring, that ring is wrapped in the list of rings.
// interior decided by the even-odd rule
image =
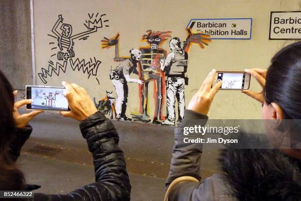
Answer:
[[[151,30],[147,31],[147,34],[142,36],[142,39],[146,40],[149,43],[147,47],[139,48],[141,52],[141,61],[137,63],[138,70],[135,68],[134,73],[139,75],[139,100],[140,100],[140,114],[132,114],[135,120],[150,122],[150,116],[148,114],[148,87],[150,81],[154,82],[154,102],[155,102],[155,114],[153,117],[154,124],[160,124],[159,120],[164,120],[162,115],[162,106],[164,101],[162,97],[165,93],[165,81],[164,74],[160,70],[160,60],[165,57],[167,54],[165,50],[159,48],[159,45],[162,44],[164,40],[171,35],[167,34],[171,32],[152,32]],[[119,56],[119,33],[114,37],[108,39],[107,37],[102,40],[102,47],[111,47],[115,46],[115,56],[114,61],[125,61],[126,57]],[[114,85],[115,86],[115,85]],[[118,96],[117,96],[118,97]],[[127,93],[126,93],[127,97]],[[126,118],[131,120],[130,118]]]

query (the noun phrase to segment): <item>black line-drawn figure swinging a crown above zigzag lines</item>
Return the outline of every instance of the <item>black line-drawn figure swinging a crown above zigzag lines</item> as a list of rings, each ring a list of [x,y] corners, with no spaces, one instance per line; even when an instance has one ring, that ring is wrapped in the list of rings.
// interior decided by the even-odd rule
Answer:
[[[56,42],[49,42],[51,50],[56,51],[56,53],[50,57],[57,55],[56,58],[58,61],[49,61],[48,67],[41,68],[41,72],[38,73],[38,76],[44,84],[47,83],[47,78],[52,77],[54,74],[59,76],[61,72],[66,73],[68,63],[73,71],[78,70],[87,74],[88,79],[90,76],[93,76],[98,84],[100,84],[96,75],[101,61],[96,60],[95,57],[93,57],[93,59],[90,58],[90,61],[75,58],[74,41],[75,39],[82,41],[87,40],[91,33],[97,32],[100,28],[109,27],[109,25],[107,25],[109,20],[103,20],[105,16],[106,14],[88,13],[89,19],[84,22],[85,29],[87,30],[82,33],[73,34],[72,25],[63,23],[62,15],[59,15],[58,20],[51,30],[52,33],[47,34],[51,38],[56,39]]]

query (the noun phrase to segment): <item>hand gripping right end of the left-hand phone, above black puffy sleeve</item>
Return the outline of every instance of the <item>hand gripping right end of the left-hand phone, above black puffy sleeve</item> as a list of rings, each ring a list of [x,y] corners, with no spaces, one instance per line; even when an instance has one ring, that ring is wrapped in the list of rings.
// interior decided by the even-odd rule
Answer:
[[[60,111],[60,115],[83,121],[97,112],[94,103],[84,88],[77,84],[69,84],[67,82],[62,82],[62,85],[66,88],[64,96],[68,100],[71,111]]]

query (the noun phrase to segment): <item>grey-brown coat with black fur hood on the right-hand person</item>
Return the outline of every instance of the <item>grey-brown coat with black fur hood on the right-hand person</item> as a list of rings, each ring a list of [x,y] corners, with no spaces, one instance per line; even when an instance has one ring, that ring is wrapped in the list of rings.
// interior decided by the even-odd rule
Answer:
[[[208,117],[185,110],[181,127],[198,122],[206,124]],[[201,121],[200,121],[201,120]],[[204,126],[203,125],[203,126]],[[175,132],[175,146],[168,187],[181,176],[201,180],[202,149],[196,144],[184,144],[181,128]],[[189,135],[200,137],[198,134]],[[222,173],[199,182],[182,182],[170,192],[169,201],[301,201],[301,161],[276,149],[224,149],[220,155]]]

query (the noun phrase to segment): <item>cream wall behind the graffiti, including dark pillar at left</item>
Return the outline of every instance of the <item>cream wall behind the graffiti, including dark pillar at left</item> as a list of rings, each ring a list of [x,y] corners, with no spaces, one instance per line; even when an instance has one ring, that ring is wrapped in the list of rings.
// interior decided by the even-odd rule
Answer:
[[[30,3],[29,0],[1,0],[0,16],[2,33],[0,34],[0,69],[3,70],[16,88],[23,88],[32,81],[30,50]],[[206,6],[204,6],[206,5]],[[146,46],[141,36],[151,29],[171,31],[172,37],[186,38],[185,27],[191,18],[253,18],[251,40],[213,40],[204,50],[193,45],[189,51],[187,75],[189,85],[185,87],[186,105],[196,92],[201,82],[212,68],[218,70],[243,70],[244,68],[262,67],[270,64],[270,59],[281,47],[293,42],[287,40],[268,40],[270,11],[300,10],[300,0],[181,0],[173,1],[121,1],[121,0],[33,0],[35,62],[37,84],[60,86],[62,80],[76,82],[88,89],[91,97],[100,100],[106,91],[115,89],[109,79],[109,70],[119,63],[114,62],[114,47],[101,48],[104,36],[112,37],[120,33],[120,56],[128,56],[131,48]],[[72,25],[73,34],[87,31],[84,26],[88,13],[105,13],[103,20],[107,25],[91,33],[86,39],[74,40],[76,58],[85,62],[94,57],[101,61],[98,71],[90,66],[88,71],[72,69],[70,63],[64,68],[57,66],[57,39],[51,29],[62,15],[63,22]],[[2,20],[3,19],[3,20]],[[104,23],[105,24],[105,23]],[[169,40],[167,40],[169,41]],[[169,52],[168,42],[162,47]],[[49,63],[51,62],[51,63]],[[52,65],[53,63],[53,65]],[[44,69],[44,70],[43,70]],[[93,70],[94,71],[93,71]],[[51,76],[48,73],[51,72]],[[59,72],[60,70],[60,72]],[[64,71],[65,72],[64,72]],[[47,75],[44,80],[39,73]],[[94,74],[93,74],[94,73]],[[58,75],[59,74],[59,75]],[[40,74],[41,75],[41,74]],[[138,78],[132,75],[132,78]],[[42,77],[43,78],[43,77]],[[97,79],[96,79],[97,78]],[[98,84],[98,81],[99,84]],[[46,81],[46,83],[44,82]],[[129,98],[126,114],[139,113],[139,91],[136,83],[129,83]],[[149,92],[149,114],[152,118],[154,100],[152,83]],[[251,90],[259,91],[260,86],[251,80]],[[166,97],[165,97],[166,99]],[[165,100],[166,102],[166,100]],[[247,105],[247,106],[246,106]],[[222,91],[216,96],[209,113],[211,118],[253,119],[261,118],[261,105],[240,92]],[[166,107],[163,108],[166,114]]]

